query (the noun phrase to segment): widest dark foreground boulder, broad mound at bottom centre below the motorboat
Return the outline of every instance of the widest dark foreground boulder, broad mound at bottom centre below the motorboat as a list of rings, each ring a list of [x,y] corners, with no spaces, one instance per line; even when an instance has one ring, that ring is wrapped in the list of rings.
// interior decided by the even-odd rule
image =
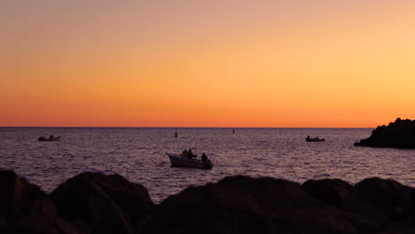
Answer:
[[[336,207],[300,184],[273,178],[226,177],[171,196],[141,222],[144,233],[358,233]]]

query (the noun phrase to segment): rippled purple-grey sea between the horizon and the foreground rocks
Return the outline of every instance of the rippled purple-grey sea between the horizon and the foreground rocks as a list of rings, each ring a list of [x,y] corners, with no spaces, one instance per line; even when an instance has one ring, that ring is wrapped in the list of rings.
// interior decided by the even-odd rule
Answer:
[[[415,187],[415,150],[356,147],[372,129],[0,128],[0,168],[43,191],[84,171],[118,173],[141,183],[159,203],[190,185],[228,175],[271,176],[298,183],[341,178],[394,179]],[[62,136],[38,142],[39,136]],[[325,142],[307,143],[306,136]],[[172,168],[165,152],[207,153],[212,170]]]

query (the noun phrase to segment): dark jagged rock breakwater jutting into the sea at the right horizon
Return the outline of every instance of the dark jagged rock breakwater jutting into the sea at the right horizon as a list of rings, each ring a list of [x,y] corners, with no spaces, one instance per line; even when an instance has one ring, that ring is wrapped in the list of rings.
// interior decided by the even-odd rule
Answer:
[[[362,139],[355,145],[415,149],[415,121],[397,118],[388,127],[379,126],[369,138]]]

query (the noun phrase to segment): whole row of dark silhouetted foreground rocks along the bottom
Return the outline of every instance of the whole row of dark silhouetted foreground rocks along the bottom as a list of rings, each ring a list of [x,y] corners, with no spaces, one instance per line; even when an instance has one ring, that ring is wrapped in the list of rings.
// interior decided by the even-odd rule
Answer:
[[[153,204],[121,175],[85,172],[45,194],[0,170],[0,233],[415,233],[415,189],[367,178],[229,176]]]

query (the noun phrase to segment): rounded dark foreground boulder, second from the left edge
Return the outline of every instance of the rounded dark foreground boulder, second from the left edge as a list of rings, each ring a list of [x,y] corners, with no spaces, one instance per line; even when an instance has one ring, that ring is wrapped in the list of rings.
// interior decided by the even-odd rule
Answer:
[[[144,186],[121,175],[82,173],[51,192],[60,217],[83,221],[91,233],[132,233],[153,201]]]

